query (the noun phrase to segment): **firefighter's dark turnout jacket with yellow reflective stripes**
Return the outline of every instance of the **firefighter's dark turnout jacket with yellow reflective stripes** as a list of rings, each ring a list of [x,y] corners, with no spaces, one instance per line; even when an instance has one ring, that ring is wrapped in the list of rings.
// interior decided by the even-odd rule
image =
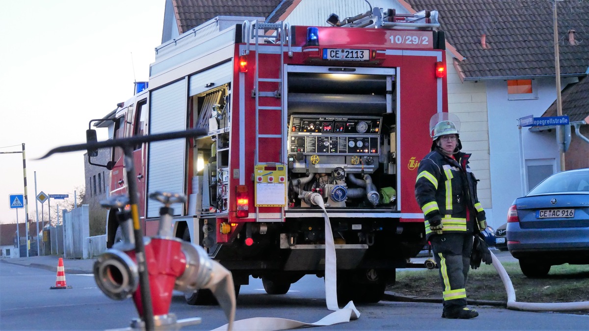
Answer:
[[[419,163],[415,198],[425,216],[426,239],[435,233],[430,225],[442,223],[443,233],[478,233],[477,221],[485,220],[478,180],[468,166],[470,156],[458,152],[454,160],[435,147]]]

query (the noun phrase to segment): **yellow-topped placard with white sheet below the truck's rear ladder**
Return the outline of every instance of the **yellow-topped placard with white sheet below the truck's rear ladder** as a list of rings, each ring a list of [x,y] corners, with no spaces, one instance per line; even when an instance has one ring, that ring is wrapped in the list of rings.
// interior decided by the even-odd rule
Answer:
[[[259,164],[254,171],[256,207],[284,207],[286,205],[286,167]]]

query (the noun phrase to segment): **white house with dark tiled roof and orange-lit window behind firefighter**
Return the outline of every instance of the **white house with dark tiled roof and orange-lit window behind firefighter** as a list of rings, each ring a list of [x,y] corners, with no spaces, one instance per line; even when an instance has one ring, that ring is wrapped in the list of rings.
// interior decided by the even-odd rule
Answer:
[[[449,46],[448,110],[466,121],[468,135],[461,138],[478,160],[474,171],[488,169],[491,200],[485,208],[497,227],[515,198],[562,170],[554,126],[522,128],[521,136],[517,126],[528,115],[556,115],[552,2],[399,2],[409,11],[439,12]],[[562,114],[580,129],[564,154],[568,170],[589,167],[589,101],[583,100],[589,96],[583,82],[589,73],[589,2],[558,2],[557,18]]]

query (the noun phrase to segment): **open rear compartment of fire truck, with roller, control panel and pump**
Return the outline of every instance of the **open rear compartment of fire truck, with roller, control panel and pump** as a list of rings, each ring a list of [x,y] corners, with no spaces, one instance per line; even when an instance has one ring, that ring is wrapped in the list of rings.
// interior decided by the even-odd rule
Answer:
[[[289,208],[396,210],[395,77],[362,72],[287,75]]]

